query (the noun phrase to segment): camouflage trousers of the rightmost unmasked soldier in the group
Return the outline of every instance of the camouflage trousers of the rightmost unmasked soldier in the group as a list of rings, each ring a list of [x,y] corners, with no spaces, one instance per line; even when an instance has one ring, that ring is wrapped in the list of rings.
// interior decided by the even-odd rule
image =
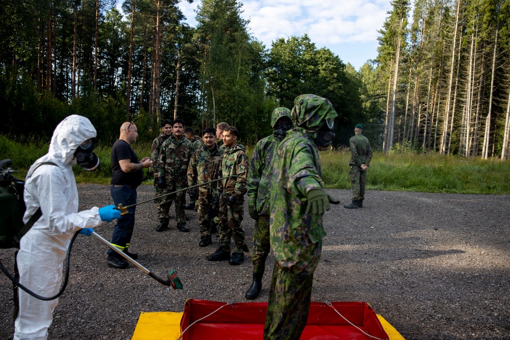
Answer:
[[[220,246],[224,251],[230,251],[231,240],[234,239],[236,247],[234,252],[248,251],[244,243],[244,230],[241,226],[244,216],[244,199],[241,197],[232,206],[226,204],[226,199],[220,198],[219,229]]]

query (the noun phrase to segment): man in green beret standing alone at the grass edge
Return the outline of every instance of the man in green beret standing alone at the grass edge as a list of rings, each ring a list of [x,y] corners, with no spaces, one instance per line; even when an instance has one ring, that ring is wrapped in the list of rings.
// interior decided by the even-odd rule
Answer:
[[[365,199],[365,182],[367,179],[367,169],[372,160],[372,148],[368,138],[363,136],[362,133],[363,125],[356,124],[354,136],[349,139],[351,151],[349,176],[351,179],[352,202],[344,205],[347,209],[362,208],[363,200]]]

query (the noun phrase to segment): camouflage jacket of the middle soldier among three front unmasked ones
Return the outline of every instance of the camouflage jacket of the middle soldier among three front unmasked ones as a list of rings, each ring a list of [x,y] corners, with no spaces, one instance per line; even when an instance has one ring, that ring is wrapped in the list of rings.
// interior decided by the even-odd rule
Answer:
[[[209,150],[205,145],[196,150],[191,155],[188,166],[188,186],[191,187],[219,178],[223,153],[223,149],[217,145],[212,150]],[[207,185],[207,187],[199,187],[199,191],[205,192],[206,195],[207,192],[217,194],[218,186],[219,182],[214,182]]]

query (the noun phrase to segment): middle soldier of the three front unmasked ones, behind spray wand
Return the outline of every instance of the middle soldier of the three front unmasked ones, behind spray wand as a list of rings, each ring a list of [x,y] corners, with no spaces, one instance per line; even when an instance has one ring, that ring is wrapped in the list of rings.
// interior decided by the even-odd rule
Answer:
[[[203,132],[203,146],[196,150],[188,166],[188,186],[202,184],[219,178],[221,172],[221,157],[224,153],[216,145],[216,130],[212,127]],[[198,224],[200,225],[200,247],[207,247],[212,243],[211,233],[217,230],[217,216],[219,214],[219,182],[198,187]],[[190,189],[195,190],[195,189]],[[216,197],[216,199],[215,199]]]

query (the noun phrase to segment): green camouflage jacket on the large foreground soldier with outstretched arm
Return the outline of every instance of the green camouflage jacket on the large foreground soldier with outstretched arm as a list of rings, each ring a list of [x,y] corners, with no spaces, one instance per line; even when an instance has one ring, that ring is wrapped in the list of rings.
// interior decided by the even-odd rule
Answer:
[[[270,193],[270,243],[278,265],[311,274],[326,235],[322,216],[306,214],[308,192],[322,188],[319,150],[309,130],[295,127],[274,151]],[[318,246],[319,245],[319,246]]]

